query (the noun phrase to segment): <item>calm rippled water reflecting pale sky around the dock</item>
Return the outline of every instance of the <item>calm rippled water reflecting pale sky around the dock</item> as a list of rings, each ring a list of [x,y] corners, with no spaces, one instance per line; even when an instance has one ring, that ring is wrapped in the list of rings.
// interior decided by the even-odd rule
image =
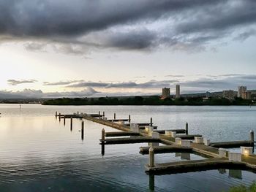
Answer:
[[[147,106],[41,106],[0,105],[0,191],[225,191],[232,185],[249,185],[256,174],[246,171],[212,170],[185,174],[148,176],[148,155],[139,147],[147,144],[106,145],[101,154],[101,130],[113,128],[85,120],[85,137],[80,137],[80,120],[55,119],[56,111],[97,113],[108,118],[149,122],[159,129],[184,128],[203,134],[212,142],[249,139],[256,131],[256,107],[147,107]],[[181,159],[182,158],[182,159]],[[156,155],[157,163],[202,159],[191,154]]]

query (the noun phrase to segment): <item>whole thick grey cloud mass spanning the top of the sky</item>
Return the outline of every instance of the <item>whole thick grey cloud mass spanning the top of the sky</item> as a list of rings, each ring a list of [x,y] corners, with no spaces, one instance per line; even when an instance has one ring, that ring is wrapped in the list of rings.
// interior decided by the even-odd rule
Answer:
[[[0,0],[0,41],[75,55],[113,48],[197,52],[223,38],[255,36],[255,23],[252,0]]]

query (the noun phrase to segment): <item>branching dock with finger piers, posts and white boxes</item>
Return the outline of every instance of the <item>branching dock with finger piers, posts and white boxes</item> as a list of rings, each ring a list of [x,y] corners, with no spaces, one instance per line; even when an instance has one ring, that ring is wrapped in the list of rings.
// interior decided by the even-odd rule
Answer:
[[[203,139],[200,134],[188,134],[188,123],[186,123],[185,129],[169,129],[169,130],[154,130],[152,118],[150,123],[137,123],[137,131],[133,129],[134,126],[131,123],[124,123],[127,119],[116,119],[116,113],[114,114],[114,120],[108,120],[104,115],[99,114],[74,114],[74,115],[61,115],[62,117],[83,118],[91,120],[95,123],[100,123],[111,128],[116,128],[119,131],[112,131],[105,133],[102,129],[102,139],[100,144],[102,145],[102,151],[105,153],[104,145],[114,144],[129,144],[129,143],[151,143],[151,147],[140,147],[141,154],[149,154],[149,162],[146,165],[146,172],[153,174],[173,174],[179,172],[195,172],[209,169],[243,169],[256,172],[256,155],[249,152],[252,147],[246,148],[245,154],[239,153],[227,153],[225,149],[230,147],[254,147],[254,132],[250,132],[250,140],[236,141],[236,142],[209,142],[208,139]],[[57,118],[56,112],[56,118]],[[130,115],[128,121],[130,122]],[[71,121],[72,122],[72,121]],[[148,132],[150,126],[151,131]],[[144,127],[145,129],[142,129]],[[166,131],[166,132],[165,132]],[[175,132],[175,136],[167,134],[167,132]],[[107,138],[105,137],[116,137]],[[195,139],[195,142],[192,141]],[[199,141],[199,142],[198,142]],[[179,143],[177,143],[179,142]],[[163,146],[155,146],[153,143],[162,143]],[[185,145],[185,146],[183,146]],[[178,161],[165,164],[155,164],[154,154],[157,153],[195,153],[206,158],[197,161]]]

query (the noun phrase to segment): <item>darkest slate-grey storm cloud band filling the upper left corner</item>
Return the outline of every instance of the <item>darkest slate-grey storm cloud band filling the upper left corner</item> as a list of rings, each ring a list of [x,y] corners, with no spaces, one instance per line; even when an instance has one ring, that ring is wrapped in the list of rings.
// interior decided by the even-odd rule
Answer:
[[[167,12],[219,1],[204,0],[10,0],[0,1],[3,34],[15,36],[78,35],[140,19],[157,19]]]

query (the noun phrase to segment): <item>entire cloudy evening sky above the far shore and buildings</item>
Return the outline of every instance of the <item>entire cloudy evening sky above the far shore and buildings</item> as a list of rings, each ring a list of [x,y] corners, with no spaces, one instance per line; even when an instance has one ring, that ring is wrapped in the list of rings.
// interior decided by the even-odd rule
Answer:
[[[255,0],[0,0],[0,98],[256,89]]]

